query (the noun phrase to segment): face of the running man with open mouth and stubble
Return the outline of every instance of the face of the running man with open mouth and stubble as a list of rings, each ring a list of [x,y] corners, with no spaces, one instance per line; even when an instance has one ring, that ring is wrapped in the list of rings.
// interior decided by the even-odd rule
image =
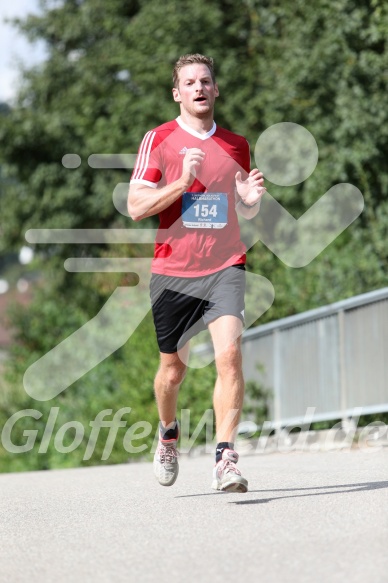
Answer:
[[[214,101],[218,97],[218,87],[213,83],[206,65],[196,63],[182,67],[179,72],[178,88],[172,90],[174,101],[181,104],[190,115],[207,117],[213,114]]]

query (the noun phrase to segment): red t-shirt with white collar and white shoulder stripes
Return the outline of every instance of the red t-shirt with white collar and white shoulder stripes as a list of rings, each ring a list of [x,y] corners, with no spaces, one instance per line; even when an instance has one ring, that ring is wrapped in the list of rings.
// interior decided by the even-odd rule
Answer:
[[[178,117],[146,133],[131,184],[161,188],[178,180],[189,148],[205,158],[188,192],[159,214],[153,273],[198,277],[245,263],[235,210],[236,172],[244,178],[250,170],[245,138],[216,124],[199,134]]]

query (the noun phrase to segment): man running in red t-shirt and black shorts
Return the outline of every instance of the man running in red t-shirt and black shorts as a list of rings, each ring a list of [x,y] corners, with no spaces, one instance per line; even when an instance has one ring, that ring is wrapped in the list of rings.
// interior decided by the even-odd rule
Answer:
[[[258,213],[264,179],[259,170],[250,170],[245,138],[214,122],[219,91],[213,59],[180,57],[173,85],[180,116],[144,136],[128,195],[132,219],[158,214],[160,220],[150,284],[160,350],[154,385],[160,419],[154,473],[163,486],[171,486],[178,476],[178,391],[189,340],[207,327],[217,369],[212,487],[246,492],[248,482],[237,469],[234,451],[244,397],[245,246],[237,212],[247,219]]]

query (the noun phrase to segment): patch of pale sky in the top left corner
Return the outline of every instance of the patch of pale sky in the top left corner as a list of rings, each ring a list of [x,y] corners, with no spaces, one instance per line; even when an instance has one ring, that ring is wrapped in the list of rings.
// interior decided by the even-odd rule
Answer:
[[[39,0],[0,0],[0,102],[12,103],[17,90],[19,74],[18,61],[24,65],[35,65],[44,60],[42,43],[30,44],[27,39],[5,18],[25,18],[28,14],[39,12]]]

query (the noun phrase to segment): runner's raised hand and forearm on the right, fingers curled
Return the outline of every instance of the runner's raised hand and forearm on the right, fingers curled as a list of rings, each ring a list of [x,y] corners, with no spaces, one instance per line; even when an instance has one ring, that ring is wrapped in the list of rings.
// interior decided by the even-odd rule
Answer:
[[[246,180],[242,180],[241,172],[238,171],[235,180],[236,211],[245,219],[253,219],[260,210],[261,197],[267,190],[263,186],[263,173],[254,168]]]

